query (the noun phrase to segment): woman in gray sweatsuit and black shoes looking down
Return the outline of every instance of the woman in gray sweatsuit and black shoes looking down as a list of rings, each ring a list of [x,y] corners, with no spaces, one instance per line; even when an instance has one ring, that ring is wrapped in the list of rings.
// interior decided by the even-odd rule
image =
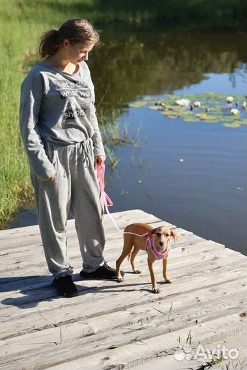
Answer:
[[[95,115],[89,52],[99,34],[83,18],[43,34],[43,61],[21,85],[20,130],[30,162],[40,235],[58,293],[78,295],[67,250],[67,218],[75,217],[82,277],[116,278],[103,257],[104,206],[97,165],[106,154]],[[122,273],[124,275],[124,273]]]

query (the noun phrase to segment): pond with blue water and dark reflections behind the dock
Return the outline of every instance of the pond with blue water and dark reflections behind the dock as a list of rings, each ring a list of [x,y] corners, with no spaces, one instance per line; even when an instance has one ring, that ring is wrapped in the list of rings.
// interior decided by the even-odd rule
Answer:
[[[119,161],[115,169],[110,156],[106,162],[110,212],[139,208],[246,254],[247,34],[150,25],[100,31],[102,44],[88,62],[99,121],[106,131],[112,124],[115,132],[128,132],[135,143],[108,145]],[[206,93],[217,95],[209,101]],[[187,109],[194,121],[150,109],[172,96],[176,105],[174,95],[204,99],[202,110]],[[235,97],[231,107],[227,95]],[[135,101],[144,104],[136,107]],[[214,101],[220,119],[196,116]],[[230,108],[239,109],[238,119]],[[30,208],[8,227],[35,223]]]

